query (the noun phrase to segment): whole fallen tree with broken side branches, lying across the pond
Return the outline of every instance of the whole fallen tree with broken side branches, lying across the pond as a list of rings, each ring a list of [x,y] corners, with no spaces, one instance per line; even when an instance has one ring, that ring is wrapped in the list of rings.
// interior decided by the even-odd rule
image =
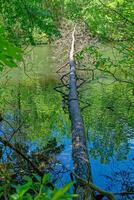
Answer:
[[[97,198],[97,196],[101,196],[101,198],[106,196],[109,200],[115,200],[113,193],[100,189],[94,185],[92,181],[87,138],[85,134],[83,118],[81,115],[81,111],[89,106],[89,103],[78,99],[78,89],[84,83],[86,83],[87,80],[78,77],[76,74],[78,68],[76,67],[74,60],[74,55],[76,54],[76,52],[74,52],[74,46],[75,28],[72,32],[69,61],[57,70],[57,74],[60,74],[61,84],[54,88],[62,95],[63,102],[68,105],[68,111],[70,115],[72,129],[72,156],[74,161],[74,171],[71,171],[70,175],[73,181],[75,179],[74,192],[78,194],[77,200],[94,200]],[[69,69],[67,68],[68,65]],[[92,71],[92,73],[94,76],[94,71]],[[82,82],[78,83],[78,81]],[[80,108],[79,102],[84,103],[85,106]],[[98,193],[100,195],[97,195]]]

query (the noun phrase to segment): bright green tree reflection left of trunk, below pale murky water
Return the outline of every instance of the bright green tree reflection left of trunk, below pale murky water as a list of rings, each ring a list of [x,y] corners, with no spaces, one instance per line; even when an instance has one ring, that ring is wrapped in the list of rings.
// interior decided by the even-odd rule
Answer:
[[[10,123],[2,122],[7,136],[23,122],[21,132],[19,129],[16,134],[17,142],[24,138],[42,138],[42,145],[45,145],[53,130],[67,132],[68,115],[62,110],[61,97],[53,90],[53,82],[44,84],[47,87],[42,86],[39,80],[27,80],[25,84],[19,84],[18,90],[15,86],[5,88],[6,92],[1,96],[1,112]]]

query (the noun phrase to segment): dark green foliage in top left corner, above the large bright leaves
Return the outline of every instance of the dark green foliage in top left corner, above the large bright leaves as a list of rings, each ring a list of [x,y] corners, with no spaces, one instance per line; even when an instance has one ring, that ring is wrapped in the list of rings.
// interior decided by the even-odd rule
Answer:
[[[1,1],[1,19],[14,44],[34,44],[34,32],[44,32],[46,37],[59,35],[51,11],[43,4],[41,0]]]

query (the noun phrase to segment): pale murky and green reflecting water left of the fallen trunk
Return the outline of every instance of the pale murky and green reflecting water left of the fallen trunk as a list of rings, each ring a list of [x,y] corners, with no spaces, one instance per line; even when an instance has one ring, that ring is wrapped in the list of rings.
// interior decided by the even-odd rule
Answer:
[[[68,114],[62,109],[61,95],[54,90],[58,81],[51,47],[34,48],[25,65],[9,72],[8,77],[0,88],[1,112],[14,129],[21,126],[15,135],[17,142],[39,140],[44,146],[54,136],[69,134]]]

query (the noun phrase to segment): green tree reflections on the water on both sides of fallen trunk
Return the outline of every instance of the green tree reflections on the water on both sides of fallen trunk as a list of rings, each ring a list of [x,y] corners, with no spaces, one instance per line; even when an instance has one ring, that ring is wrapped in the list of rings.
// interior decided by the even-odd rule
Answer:
[[[9,81],[0,88],[1,112],[13,116],[8,119],[14,128],[24,123],[16,134],[17,141],[40,139],[40,144],[46,145],[54,134],[70,136],[68,114],[62,109],[61,95],[53,89],[58,80],[52,52],[50,46],[34,48],[25,58],[26,66],[12,70]],[[100,157],[102,163],[113,155],[126,158],[133,137],[133,87],[96,81],[82,88],[80,98],[90,103],[83,111],[89,142],[94,144],[90,154]]]

